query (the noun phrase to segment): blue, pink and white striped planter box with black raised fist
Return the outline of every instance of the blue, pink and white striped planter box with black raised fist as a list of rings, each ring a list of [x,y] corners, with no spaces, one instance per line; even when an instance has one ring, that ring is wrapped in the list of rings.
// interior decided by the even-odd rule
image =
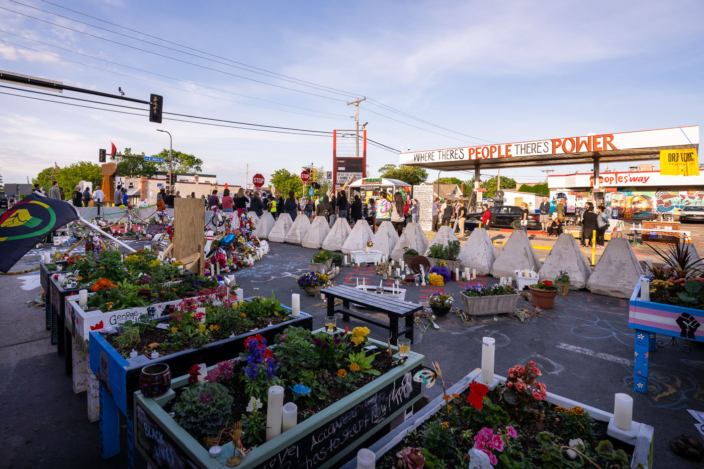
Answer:
[[[693,320],[704,324],[704,311],[641,300],[641,276],[628,308],[628,327],[634,329],[633,390],[648,392],[648,360],[655,351],[655,334],[704,342],[704,327],[689,327]],[[686,315],[686,316],[685,316]]]

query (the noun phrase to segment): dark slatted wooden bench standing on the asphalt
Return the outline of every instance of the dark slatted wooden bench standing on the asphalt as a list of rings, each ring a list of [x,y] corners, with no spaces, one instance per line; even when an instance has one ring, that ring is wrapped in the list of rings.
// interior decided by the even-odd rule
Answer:
[[[383,327],[391,332],[391,343],[396,344],[399,336],[410,339],[413,343],[414,313],[420,311],[422,306],[410,301],[401,301],[393,298],[384,298],[383,294],[365,292],[361,289],[337,285],[327,287],[320,291],[327,297],[327,315],[342,313],[342,320],[350,320],[350,316]],[[342,300],[342,306],[335,307],[335,299]],[[381,311],[389,315],[389,323],[382,323],[369,318],[367,315],[350,309],[350,304],[358,304],[372,311]],[[398,320],[403,319],[403,329],[398,330]]]

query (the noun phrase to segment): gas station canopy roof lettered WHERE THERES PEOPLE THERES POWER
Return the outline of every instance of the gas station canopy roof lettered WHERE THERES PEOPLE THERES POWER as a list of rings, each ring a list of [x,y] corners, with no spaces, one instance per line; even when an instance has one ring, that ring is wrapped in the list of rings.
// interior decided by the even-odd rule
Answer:
[[[660,150],[698,149],[699,126],[590,134],[509,144],[401,153],[399,163],[457,171],[523,166],[576,165],[660,158]]]

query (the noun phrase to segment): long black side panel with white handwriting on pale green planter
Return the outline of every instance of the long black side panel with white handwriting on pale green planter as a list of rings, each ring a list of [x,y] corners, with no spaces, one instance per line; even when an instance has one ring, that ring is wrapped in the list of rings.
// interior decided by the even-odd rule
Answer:
[[[320,425],[295,443],[269,458],[258,468],[313,469],[333,458],[342,449],[356,444],[358,437],[404,408],[422,393],[421,384],[413,381],[417,367],[398,377],[386,387],[367,397],[329,422]]]

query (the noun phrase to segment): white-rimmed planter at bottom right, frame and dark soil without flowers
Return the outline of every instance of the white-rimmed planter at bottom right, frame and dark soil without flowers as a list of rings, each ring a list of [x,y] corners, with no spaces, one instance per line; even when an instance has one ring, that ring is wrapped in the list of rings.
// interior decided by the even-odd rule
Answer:
[[[470,419],[474,419],[470,420],[470,428],[467,428],[464,425],[462,428],[455,428],[456,433],[451,438],[454,438],[456,441],[454,443],[451,441],[447,442],[448,446],[450,446],[452,454],[455,454],[455,451],[459,449],[462,454],[466,455],[468,451],[472,449],[472,446],[474,444],[473,436],[477,434],[478,430],[474,427],[486,426],[491,428],[492,426],[497,426],[501,427],[500,430],[503,431],[503,426],[505,426],[505,423],[503,422],[502,425],[494,425],[489,420],[481,419],[481,417],[483,417],[482,410],[489,407],[487,401],[491,401],[491,405],[496,404],[496,402],[498,402],[498,389],[493,392],[489,392],[489,394],[486,394],[486,398],[484,399],[484,408],[482,408],[482,410],[475,411],[474,407],[472,407],[472,404],[468,404],[467,402],[467,396],[471,394],[470,383],[474,382],[475,380],[477,382],[481,382],[481,373],[482,370],[480,368],[477,368],[473,370],[472,373],[469,373],[455,385],[446,390],[446,396],[458,396],[454,397],[451,401],[449,401],[451,407],[456,408],[457,410],[461,408],[461,406],[470,407],[470,413],[468,415],[470,415]],[[500,384],[505,384],[506,382],[506,378],[499,375],[494,375],[494,380],[498,380],[498,383]],[[384,437],[377,440],[377,442],[368,446],[368,448],[375,453],[376,467],[396,467],[396,461],[398,461],[398,458],[396,457],[397,452],[406,449],[409,446],[418,449],[420,449],[421,447],[425,448],[425,446],[423,446],[423,442],[429,442],[429,440],[427,440],[427,437],[431,434],[430,432],[432,430],[432,427],[441,427],[441,425],[443,425],[442,422],[446,420],[445,414],[448,412],[446,410],[446,404],[448,403],[443,399],[443,396],[438,396],[436,399],[430,402],[430,404],[425,406],[425,408],[422,408],[419,413],[416,413],[415,415],[413,415],[413,417],[406,420],[405,423],[399,425],[398,427],[396,427],[396,429],[389,432],[389,434],[384,435]],[[650,427],[650,425],[633,422],[631,432],[629,432],[629,434],[624,434],[624,432],[620,430],[612,430],[612,426],[609,425],[610,420],[613,418],[613,414],[601,411],[598,408],[586,406],[584,404],[580,404],[577,401],[572,401],[571,399],[567,399],[565,397],[557,396],[551,393],[546,393],[546,398],[539,404],[541,404],[541,406],[536,406],[536,408],[546,414],[546,418],[545,420],[543,420],[543,422],[531,422],[527,425],[521,425],[520,423],[517,424],[514,423],[513,420],[511,420],[509,423],[509,425],[515,425],[515,430],[517,430],[517,439],[520,441],[521,445],[521,451],[518,451],[517,453],[510,453],[510,451],[515,451],[515,448],[509,449],[508,447],[504,446],[504,442],[502,442],[502,451],[498,451],[498,449],[494,449],[492,451],[495,455],[503,457],[508,456],[508,454],[512,454],[516,458],[527,457],[529,451],[541,448],[541,441],[546,441],[543,434],[541,434],[540,437],[536,438],[537,434],[540,434],[540,432],[543,431],[559,431],[561,427],[565,427],[565,425],[568,425],[570,421],[579,421],[579,417],[575,417],[574,414],[562,413],[558,408],[558,406],[560,406],[560,408],[565,411],[584,411],[584,413],[589,414],[589,417],[591,417],[591,419],[594,421],[593,430],[595,434],[593,434],[593,436],[589,438],[584,438],[584,442],[589,444],[589,447],[586,450],[582,449],[582,451],[586,451],[587,453],[589,453],[591,458],[597,459],[598,461],[602,462],[602,460],[598,459],[599,456],[596,456],[596,448],[593,445],[595,444],[595,442],[608,439],[610,440],[613,449],[623,449],[625,454],[627,454],[627,460],[629,461],[629,463],[625,464],[625,467],[636,468],[641,463],[643,464],[643,468],[645,469],[652,467],[653,427]],[[554,412],[556,408],[558,408],[558,411],[560,411],[560,413],[557,413],[557,415],[561,415],[562,420],[555,421],[555,417],[552,417],[551,412]],[[552,417],[552,420],[549,420],[547,416],[548,414]],[[461,415],[462,414],[460,413],[460,419],[462,419]],[[491,415],[493,416],[493,418],[501,418],[500,413],[496,411],[494,411]],[[477,416],[480,417],[479,420],[477,420]],[[584,415],[582,415],[582,417],[584,417]],[[474,428],[472,434],[462,434],[462,432],[472,430],[472,428]],[[441,430],[440,432],[442,431],[443,430]],[[508,439],[505,434],[503,435],[503,437]],[[571,438],[572,437],[570,436],[562,437],[564,441],[558,439],[558,442],[556,443],[557,446],[553,444],[547,444],[545,446],[546,449],[549,448],[553,452],[546,453],[544,451],[537,451],[537,454],[543,454],[544,456],[546,456],[547,460],[533,461],[532,467],[539,468],[547,467],[548,465],[550,465],[550,467],[562,467],[562,465],[555,464],[558,463],[558,461],[555,461],[555,459],[557,458],[564,458],[565,463],[569,461],[573,464],[573,466],[565,465],[565,467],[578,467],[579,459],[576,459],[575,461],[570,461],[565,455],[564,448],[556,449],[560,444],[567,445]],[[515,439],[511,438],[510,442],[513,442],[513,444],[515,444]],[[506,444],[508,445],[508,442]],[[511,444],[511,446],[513,446],[513,444]],[[432,454],[432,451],[429,451],[429,453]],[[533,451],[533,453],[536,454],[536,451]],[[428,449],[425,449],[423,454],[427,456]],[[455,464],[451,462],[453,461],[453,458],[454,456],[452,455],[448,456],[447,458],[444,458],[446,464],[443,467],[455,467]],[[577,458],[581,458],[581,456],[577,455]],[[429,459],[426,459],[426,461],[429,461]],[[469,463],[469,458],[463,458],[461,466],[466,467],[467,463]],[[581,467],[592,467],[583,458],[582,463],[584,463],[584,465]],[[356,458],[352,458],[348,461],[348,463],[341,466],[341,468],[354,469],[357,467],[356,464]],[[605,467],[605,465],[601,465],[601,467]]]

